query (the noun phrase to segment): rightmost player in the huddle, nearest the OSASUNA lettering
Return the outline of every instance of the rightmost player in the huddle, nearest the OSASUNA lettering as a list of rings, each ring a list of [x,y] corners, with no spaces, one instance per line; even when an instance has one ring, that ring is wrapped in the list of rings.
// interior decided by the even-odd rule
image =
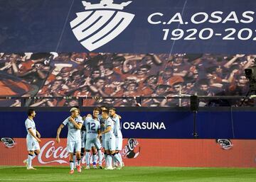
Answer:
[[[120,120],[119,120],[120,117],[119,115],[117,115],[116,111],[117,110],[115,108],[110,108],[110,118],[114,121],[115,154],[119,157],[123,166],[122,156],[119,153],[119,151],[122,150],[122,132],[121,132],[121,126],[120,126]]]

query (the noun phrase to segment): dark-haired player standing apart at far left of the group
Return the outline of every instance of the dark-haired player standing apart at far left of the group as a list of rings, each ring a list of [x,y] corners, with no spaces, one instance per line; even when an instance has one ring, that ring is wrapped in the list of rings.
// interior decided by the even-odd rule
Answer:
[[[28,109],[28,118],[25,121],[26,130],[28,132],[26,136],[26,145],[28,149],[28,159],[23,161],[26,164],[28,170],[36,170],[32,166],[32,160],[40,153],[39,142],[41,142],[40,133],[36,130],[36,124],[33,118],[36,117],[36,110]]]

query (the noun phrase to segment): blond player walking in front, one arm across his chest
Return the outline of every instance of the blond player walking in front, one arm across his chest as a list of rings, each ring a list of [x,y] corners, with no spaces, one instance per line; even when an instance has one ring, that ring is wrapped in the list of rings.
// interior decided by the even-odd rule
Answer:
[[[78,165],[76,168],[78,172],[81,172],[80,159],[81,159],[81,128],[82,117],[79,115],[78,108],[70,109],[70,117],[66,118],[63,123],[58,127],[56,142],[60,142],[60,132],[65,125],[68,125],[68,140],[67,151],[70,154],[70,174],[74,173],[73,152],[75,151]]]

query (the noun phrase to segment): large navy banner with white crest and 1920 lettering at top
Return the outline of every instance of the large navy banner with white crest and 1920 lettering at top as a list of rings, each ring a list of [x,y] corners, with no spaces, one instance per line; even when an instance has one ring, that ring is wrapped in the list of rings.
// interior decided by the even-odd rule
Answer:
[[[253,0],[27,0],[0,7],[2,52],[255,52]]]

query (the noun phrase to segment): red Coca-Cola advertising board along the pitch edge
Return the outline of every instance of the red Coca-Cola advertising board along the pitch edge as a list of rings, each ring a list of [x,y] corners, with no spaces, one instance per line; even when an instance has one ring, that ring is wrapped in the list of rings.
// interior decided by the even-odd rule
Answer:
[[[22,166],[26,159],[26,139],[1,139],[0,166]],[[11,140],[13,142],[11,142]],[[68,166],[66,139],[43,139],[41,154],[34,166]],[[256,167],[255,140],[123,140],[126,166]],[[82,159],[85,165],[85,159]]]

